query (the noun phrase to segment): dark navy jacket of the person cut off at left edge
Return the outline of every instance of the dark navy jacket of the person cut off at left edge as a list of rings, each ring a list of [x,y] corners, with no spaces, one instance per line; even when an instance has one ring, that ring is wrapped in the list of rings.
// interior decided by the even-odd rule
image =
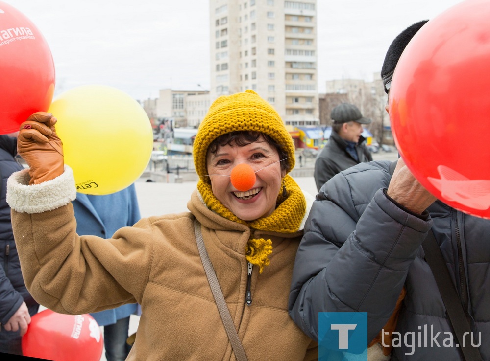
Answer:
[[[0,322],[2,325],[15,314],[22,302],[25,301],[31,315],[37,312],[39,306],[25,288],[12,233],[10,207],[5,201],[7,178],[13,172],[23,169],[15,159],[16,154],[17,139],[0,135]]]

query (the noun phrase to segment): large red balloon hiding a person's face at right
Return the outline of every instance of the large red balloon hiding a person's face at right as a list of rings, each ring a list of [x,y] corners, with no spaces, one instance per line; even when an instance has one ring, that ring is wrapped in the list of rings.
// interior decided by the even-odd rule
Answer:
[[[392,132],[417,180],[490,219],[490,1],[459,3],[404,50],[390,89]]]

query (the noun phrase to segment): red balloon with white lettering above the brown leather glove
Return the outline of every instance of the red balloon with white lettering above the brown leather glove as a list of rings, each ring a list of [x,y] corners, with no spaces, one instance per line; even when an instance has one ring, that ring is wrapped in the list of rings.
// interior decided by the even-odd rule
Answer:
[[[48,43],[19,10],[0,1],[0,134],[17,132],[35,112],[46,112],[54,94]]]

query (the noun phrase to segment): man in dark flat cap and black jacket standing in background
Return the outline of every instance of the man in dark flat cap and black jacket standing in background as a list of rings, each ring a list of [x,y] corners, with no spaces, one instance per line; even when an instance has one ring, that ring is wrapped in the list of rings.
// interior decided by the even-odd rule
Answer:
[[[332,109],[332,134],[315,161],[317,189],[337,173],[353,165],[370,162],[371,153],[366,147],[363,124],[370,124],[354,104],[342,103]]]

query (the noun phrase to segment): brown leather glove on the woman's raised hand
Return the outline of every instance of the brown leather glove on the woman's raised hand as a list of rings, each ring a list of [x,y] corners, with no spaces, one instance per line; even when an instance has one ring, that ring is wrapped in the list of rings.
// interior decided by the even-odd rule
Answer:
[[[29,165],[29,185],[52,180],[63,173],[63,144],[56,135],[57,119],[46,112],[37,112],[21,124],[17,152]]]

